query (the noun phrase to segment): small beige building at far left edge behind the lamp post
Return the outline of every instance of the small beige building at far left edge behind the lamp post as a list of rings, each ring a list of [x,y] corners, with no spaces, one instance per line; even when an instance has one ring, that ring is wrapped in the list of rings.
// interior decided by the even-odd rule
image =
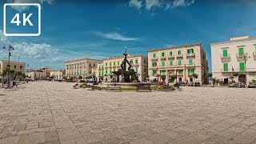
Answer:
[[[8,67],[8,61],[0,61],[0,74],[3,70],[6,70]],[[10,62],[10,70],[21,72],[22,74],[26,73],[26,63],[25,62]]]

